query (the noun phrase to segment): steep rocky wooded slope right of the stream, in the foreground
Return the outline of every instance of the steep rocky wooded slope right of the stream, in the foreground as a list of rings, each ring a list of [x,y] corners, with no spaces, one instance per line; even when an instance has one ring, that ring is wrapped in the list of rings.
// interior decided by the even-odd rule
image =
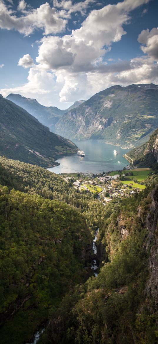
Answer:
[[[98,239],[108,258],[97,278],[52,311],[40,344],[157,344],[157,206],[158,185],[114,205],[111,214],[105,207]]]

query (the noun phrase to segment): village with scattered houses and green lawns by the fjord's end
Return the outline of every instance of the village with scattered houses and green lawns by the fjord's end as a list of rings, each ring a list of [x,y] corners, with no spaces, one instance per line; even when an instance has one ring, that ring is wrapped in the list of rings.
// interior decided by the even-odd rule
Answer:
[[[108,173],[108,172],[107,172]],[[71,187],[79,191],[89,191],[95,193],[100,200],[106,204],[113,198],[129,197],[135,192],[139,193],[145,189],[145,185],[140,181],[145,180],[150,169],[131,169],[128,171],[111,171],[107,173],[78,173],[78,179],[74,176],[64,178],[66,182],[71,182]]]

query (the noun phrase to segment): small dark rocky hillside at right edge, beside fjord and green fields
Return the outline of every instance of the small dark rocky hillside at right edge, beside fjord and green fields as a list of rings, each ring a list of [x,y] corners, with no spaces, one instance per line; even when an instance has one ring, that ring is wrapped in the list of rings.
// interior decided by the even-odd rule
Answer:
[[[133,164],[138,167],[151,167],[158,162],[158,129],[150,136],[148,142],[127,153]]]

